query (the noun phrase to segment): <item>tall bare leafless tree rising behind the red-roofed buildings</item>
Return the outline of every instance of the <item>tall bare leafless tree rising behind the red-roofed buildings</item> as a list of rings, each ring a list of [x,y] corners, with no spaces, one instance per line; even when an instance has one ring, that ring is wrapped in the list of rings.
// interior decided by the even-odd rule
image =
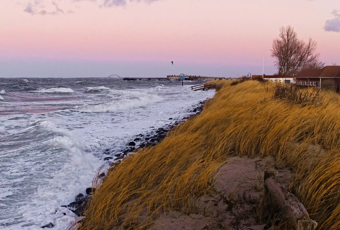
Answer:
[[[311,38],[306,43],[297,37],[293,27],[281,27],[271,49],[278,75],[293,75],[303,69],[322,68],[324,63],[319,60],[320,53],[316,49],[317,42]]]

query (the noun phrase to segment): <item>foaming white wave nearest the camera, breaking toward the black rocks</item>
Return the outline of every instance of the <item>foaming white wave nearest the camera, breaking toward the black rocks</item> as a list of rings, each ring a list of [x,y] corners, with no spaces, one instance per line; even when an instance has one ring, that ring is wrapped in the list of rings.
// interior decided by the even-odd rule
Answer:
[[[40,143],[25,144],[16,153],[16,162],[7,160],[6,155],[4,156],[2,165],[8,166],[8,170],[0,174],[5,185],[0,187],[0,202],[6,201],[8,196],[14,196],[15,199],[20,190],[25,191],[26,195],[12,207],[16,216],[7,219],[0,216],[0,229],[1,224],[6,221],[15,223],[16,218],[21,219],[21,224],[14,224],[6,229],[36,230],[50,222],[55,229],[66,229],[77,216],[61,205],[72,202],[74,194],[84,193],[84,189],[91,186],[91,179],[103,164],[91,152],[83,151],[82,145],[77,138],[72,137],[69,130],[58,127],[52,121],[36,120],[17,134],[25,133],[27,138],[31,138],[35,132],[51,138]],[[25,148],[30,151],[20,158],[20,152]],[[14,165],[17,167],[13,167]],[[12,184],[16,183],[21,183],[21,187],[13,188]],[[1,214],[6,215],[8,211],[11,212],[11,209],[5,209]]]

